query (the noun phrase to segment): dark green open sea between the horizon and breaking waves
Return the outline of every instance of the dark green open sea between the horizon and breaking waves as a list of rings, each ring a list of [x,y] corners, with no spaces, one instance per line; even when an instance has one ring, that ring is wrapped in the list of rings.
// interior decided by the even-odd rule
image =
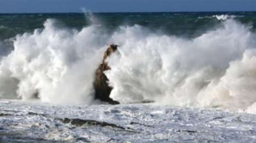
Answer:
[[[154,32],[192,38],[220,26],[222,21],[216,16],[235,18],[243,24],[252,25],[252,30],[256,28],[256,12],[0,14],[0,39],[43,28],[46,19],[56,19],[59,27],[78,30],[92,23],[108,32],[123,25],[141,25]]]

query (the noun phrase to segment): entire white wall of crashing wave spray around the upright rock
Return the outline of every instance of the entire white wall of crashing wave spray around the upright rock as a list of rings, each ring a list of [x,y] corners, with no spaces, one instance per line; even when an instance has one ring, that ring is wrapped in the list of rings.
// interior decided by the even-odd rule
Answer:
[[[232,15],[211,15],[218,21],[214,27],[188,38],[139,24],[119,25],[109,32],[104,20],[90,16],[91,24],[81,29],[47,19],[44,28],[16,35],[14,50],[2,52],[0,58],[0,97],[29,100],[38,92],[44,102],[100,103],[93,100],[94,71],[113,42],[120,46],[119,52],[107,59],[111,70],[105,74],[114,100],[255,113],[252,24]]]

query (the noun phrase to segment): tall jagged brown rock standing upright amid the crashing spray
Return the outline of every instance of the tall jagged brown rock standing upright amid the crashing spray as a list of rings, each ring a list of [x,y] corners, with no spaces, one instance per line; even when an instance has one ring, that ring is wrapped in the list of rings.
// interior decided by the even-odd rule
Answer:
[[[99,99],[110,104],[119,104],[118,101],[114,101],[109,97],[111,90],[113,89],[108,85],[108,78],[104,74],[104,71],[110,70],[108,63],[105,62],[108,56],[117,50],[118,45],[110,44],[107,50],[104,52],[102,63],[99,65],[95,72],[93,87],[95,90],[95,99]]]

